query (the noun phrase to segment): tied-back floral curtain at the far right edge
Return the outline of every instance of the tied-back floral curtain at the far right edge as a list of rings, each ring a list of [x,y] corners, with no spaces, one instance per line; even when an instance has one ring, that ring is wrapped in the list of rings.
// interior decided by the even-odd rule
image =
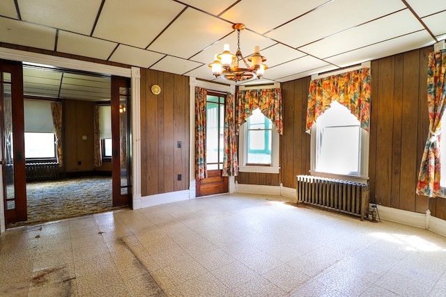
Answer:
[[[440,133],[441,118],[445,111],[446,49],[429,54],[427,67],[427,105],[429,134],[418,175],[417,194],[445,197],[440,187]]]

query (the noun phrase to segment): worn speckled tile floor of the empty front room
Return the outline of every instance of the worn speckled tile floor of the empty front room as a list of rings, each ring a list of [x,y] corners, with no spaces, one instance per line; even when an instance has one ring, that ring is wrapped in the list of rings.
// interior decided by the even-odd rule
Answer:
[[[0,296],[446,296],[446,239],[266,195],[7,230]]]

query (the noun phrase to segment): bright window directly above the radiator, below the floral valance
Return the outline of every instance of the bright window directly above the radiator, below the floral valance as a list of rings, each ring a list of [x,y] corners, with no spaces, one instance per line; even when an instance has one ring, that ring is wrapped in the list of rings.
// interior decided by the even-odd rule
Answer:
[[[345,106],[330,106],[312,127],[312,173],[365,182],[369,134]]]

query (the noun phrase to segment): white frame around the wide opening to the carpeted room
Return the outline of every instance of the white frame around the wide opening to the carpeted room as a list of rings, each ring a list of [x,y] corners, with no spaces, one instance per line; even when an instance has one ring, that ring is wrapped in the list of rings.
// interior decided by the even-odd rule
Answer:
[[[117,67],[113,65],[98,64],[89,61],[73,60],[59,56],[49,56],[31,51],[20,51],[0,47],[0,56],[4,60],[31,62],[55,67],[111,74],[118,77],[131,78],[131,106],[132,106],[132,205],[133,209],[141,208],[141,128],[140,128],[140,72],[139,67]],[[1,182],[0,186],[3,186]],[[1,201],[3,204],[3,200]],[[3,213],[1,213],[3,211]],[[4,209],[0,209],[0,233],[5,231]]]

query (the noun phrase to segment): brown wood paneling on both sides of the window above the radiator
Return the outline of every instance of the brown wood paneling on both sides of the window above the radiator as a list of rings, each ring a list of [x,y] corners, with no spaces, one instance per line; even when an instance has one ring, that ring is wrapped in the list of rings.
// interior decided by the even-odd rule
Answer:
[[[425,47],[371,63],[369,184],[371,202],[446,219],[446,199],[417,195],[418,171],[429,131]],[[310,78],[282,83],[284,135],[280,182],[295,188],[295,176],[310,169],[310,136],[305,134]]]

